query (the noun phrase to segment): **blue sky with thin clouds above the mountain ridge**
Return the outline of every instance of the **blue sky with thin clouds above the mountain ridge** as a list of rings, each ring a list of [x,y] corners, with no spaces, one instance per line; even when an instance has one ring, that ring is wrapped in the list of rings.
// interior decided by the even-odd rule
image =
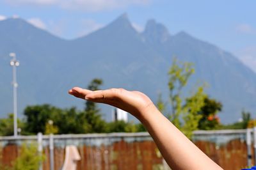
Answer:
[[[136,29],[156,19],[235,54],[256,72],[255,0],[0,0],[0,20],[19,16],[65,39],[86,35],[127,13]]]

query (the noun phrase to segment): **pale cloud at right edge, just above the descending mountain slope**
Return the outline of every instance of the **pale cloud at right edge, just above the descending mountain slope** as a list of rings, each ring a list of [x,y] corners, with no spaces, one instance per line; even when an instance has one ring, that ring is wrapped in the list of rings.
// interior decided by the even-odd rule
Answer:
[[[244,65],[250,67],[256,73],[256,46],[240,50],[237,52],[237,56]]]

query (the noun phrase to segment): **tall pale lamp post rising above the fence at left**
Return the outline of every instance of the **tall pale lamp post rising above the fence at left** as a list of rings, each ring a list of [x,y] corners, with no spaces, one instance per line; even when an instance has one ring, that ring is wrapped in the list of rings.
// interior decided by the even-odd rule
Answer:
[[[14,52],[11,52],[9,56],[12,58],[10,61],[10,65],[12,66],[13,70],[13,135],[14,137],[17,137],[18,132],[17,132],[17,88],[18,88],[18,83],[16,79],[16,67],[20,65],[19,61],[16,59],[16,54]]]

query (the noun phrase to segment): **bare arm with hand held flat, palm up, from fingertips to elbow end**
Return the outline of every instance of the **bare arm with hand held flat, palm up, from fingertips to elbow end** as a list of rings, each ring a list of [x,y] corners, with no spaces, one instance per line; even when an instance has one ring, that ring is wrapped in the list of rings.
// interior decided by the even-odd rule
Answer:
[[[171,169],[222,169],[189,141],[158,111],[150,98],[140,91],[115,88],[90,91],[75,87],[68,93],[84,100],[113,105],[138,118],[147,128]]]

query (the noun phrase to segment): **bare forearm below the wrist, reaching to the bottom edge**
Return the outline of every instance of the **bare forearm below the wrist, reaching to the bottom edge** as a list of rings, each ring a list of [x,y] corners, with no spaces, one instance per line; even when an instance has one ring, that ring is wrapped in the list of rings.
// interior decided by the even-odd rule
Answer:
[[[221,169],[180,132],[154,105],[141,113],[140,121],[152,135],[172,169]]]

